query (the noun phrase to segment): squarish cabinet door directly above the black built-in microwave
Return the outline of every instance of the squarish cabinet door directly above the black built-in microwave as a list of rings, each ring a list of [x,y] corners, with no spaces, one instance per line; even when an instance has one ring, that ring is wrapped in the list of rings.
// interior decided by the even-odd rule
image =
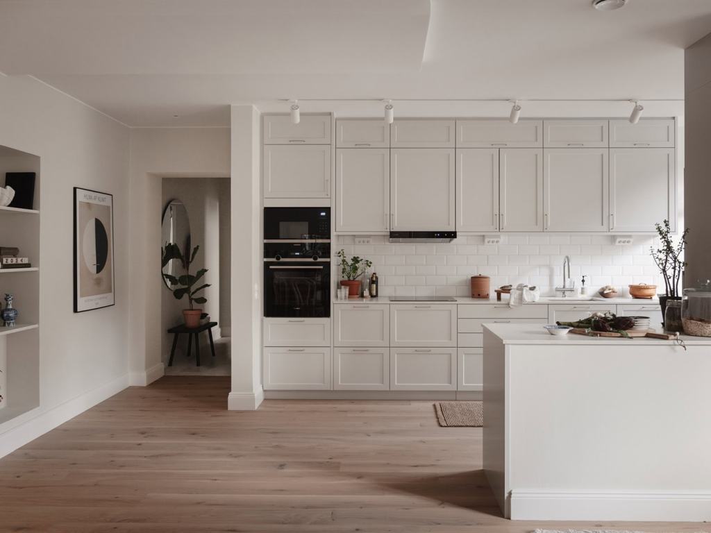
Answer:
[[[264,198],[328,198],[331,146],[264,146]]]

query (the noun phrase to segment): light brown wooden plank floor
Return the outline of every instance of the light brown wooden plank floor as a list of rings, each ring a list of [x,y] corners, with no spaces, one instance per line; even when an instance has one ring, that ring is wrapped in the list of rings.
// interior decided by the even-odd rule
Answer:
[[[530,532],[701,524],[510,522],[481,429],[432,402],[268,400],[227,411],[229,378],[132,387],[0,459],[1,532]]]

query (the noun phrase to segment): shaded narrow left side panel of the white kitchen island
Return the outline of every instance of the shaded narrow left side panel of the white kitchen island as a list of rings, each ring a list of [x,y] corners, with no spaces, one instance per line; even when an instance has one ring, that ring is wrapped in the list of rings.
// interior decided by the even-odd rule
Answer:
[[[483,469],[501,512],[508,518],[506,483],[506,349],[483,327]]]

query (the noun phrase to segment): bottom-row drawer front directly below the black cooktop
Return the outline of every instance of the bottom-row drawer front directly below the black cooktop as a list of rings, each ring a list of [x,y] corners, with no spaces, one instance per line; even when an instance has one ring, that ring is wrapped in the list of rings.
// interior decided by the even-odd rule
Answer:
[[[390,389],[456,390],[456,349],[390,350]]]

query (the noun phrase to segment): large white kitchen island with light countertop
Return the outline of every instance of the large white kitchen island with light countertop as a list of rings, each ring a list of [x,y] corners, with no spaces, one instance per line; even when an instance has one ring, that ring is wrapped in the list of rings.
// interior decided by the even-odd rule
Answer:
[[[711,519],[711,338],[483,326],[483,468],[506,517]]]

